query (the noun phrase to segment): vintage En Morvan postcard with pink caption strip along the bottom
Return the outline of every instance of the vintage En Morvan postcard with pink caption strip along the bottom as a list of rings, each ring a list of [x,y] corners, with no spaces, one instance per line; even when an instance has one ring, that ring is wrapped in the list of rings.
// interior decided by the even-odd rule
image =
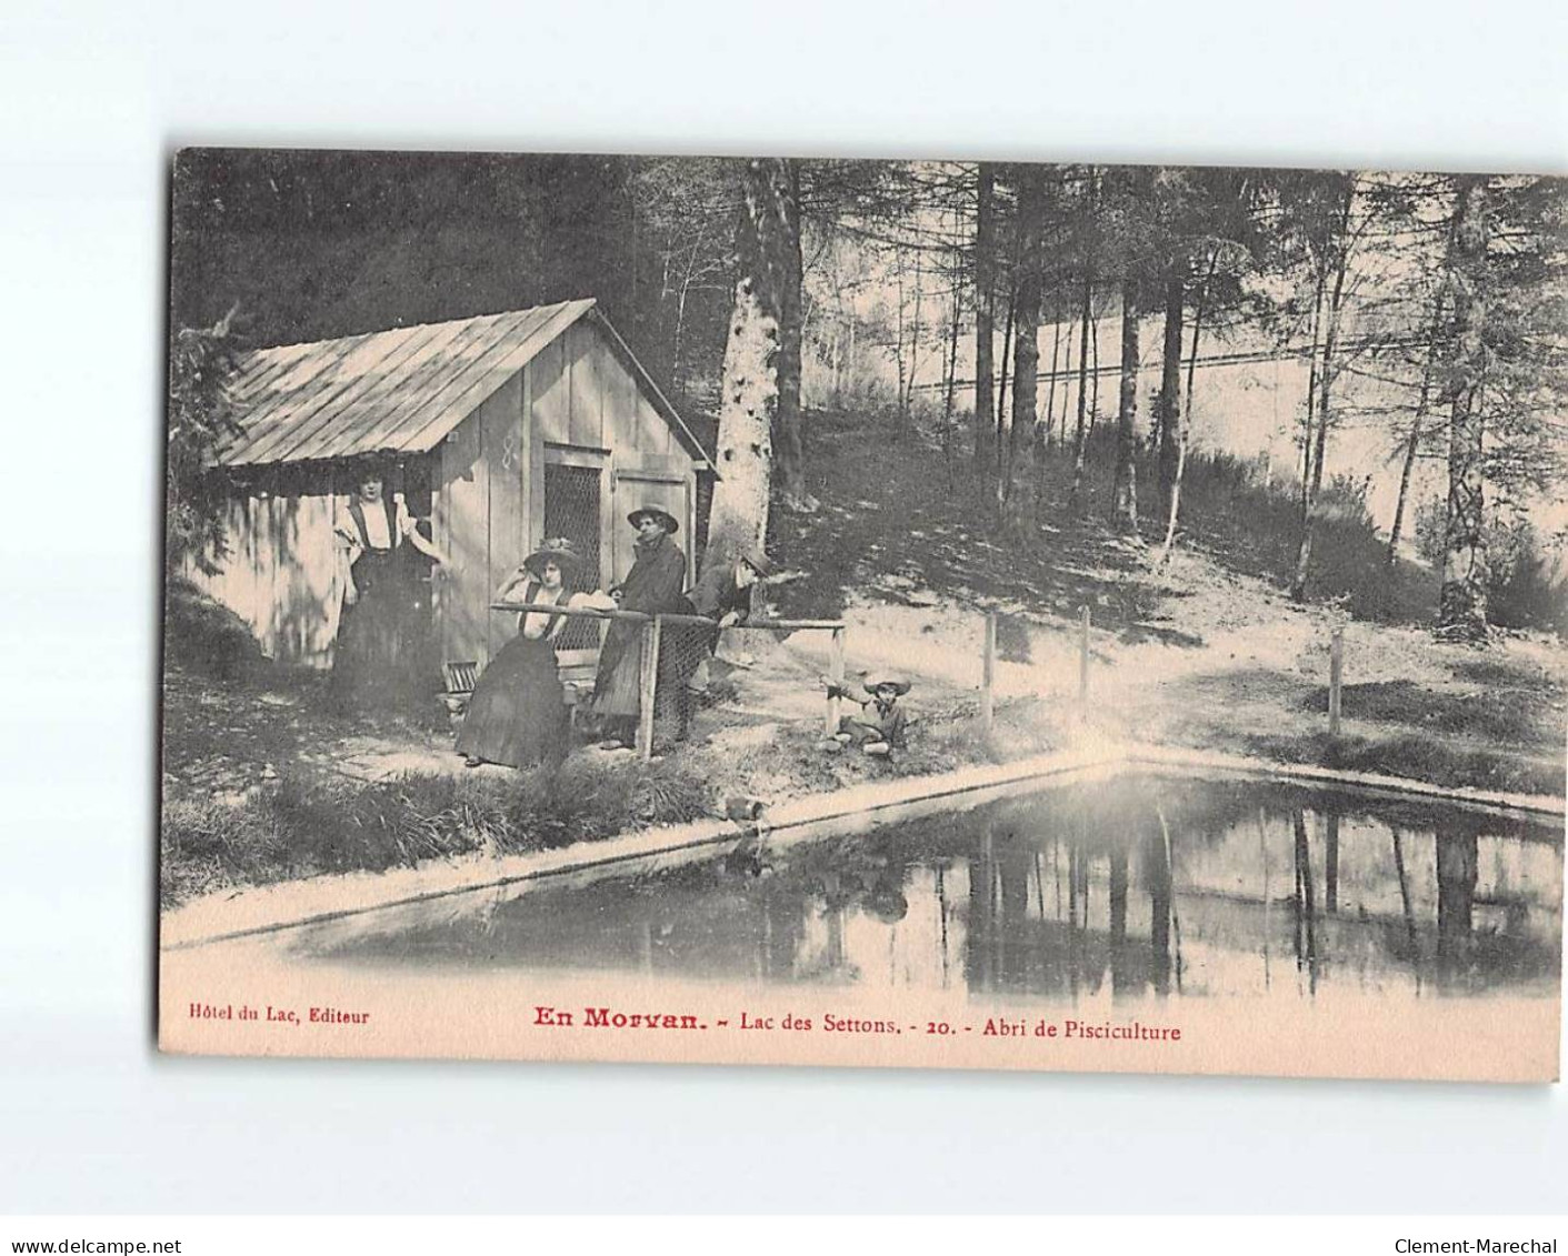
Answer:
[[[163,1049],[1557,1077],[1563,180],[171,199]]]

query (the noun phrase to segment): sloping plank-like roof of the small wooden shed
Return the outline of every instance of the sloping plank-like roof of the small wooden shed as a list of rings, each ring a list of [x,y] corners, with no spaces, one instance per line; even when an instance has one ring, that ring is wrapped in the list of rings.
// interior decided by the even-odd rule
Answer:
[[[585,315],[608,334],[693,457],[702,446],[593,299],[279,345],[246,354],[234,381],[240,434],[223,467],[422,454]]]

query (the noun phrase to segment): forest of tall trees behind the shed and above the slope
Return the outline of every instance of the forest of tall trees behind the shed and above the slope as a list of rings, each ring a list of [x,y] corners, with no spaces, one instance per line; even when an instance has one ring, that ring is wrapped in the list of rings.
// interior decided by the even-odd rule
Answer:
[[[1287,399],[1292,595],[1336,437],[1375,424],[1399,482],[1388,561],[1419,528],[1436,630],[1479,641],[1497,537],[1565,471],[1565,208],[1562,180],[1521,175],[201,150],[174,182],[171,392],[199,401],[191,363],[235,338],[594,296],[717,423],[715,556],[764,539],[770,509],[814,507],[812,423],[861,407],[891,440],[919,420],[1010,543],[1041,543],[1052,511],[1102,509],[1160,561],[1181,536],[1200,346],[1218,337],[1306,363]],[[1102,374],[1113,442],[1088,439]],[[220,428],[182,424],[193,442]],[[1113,489],[1093,506],[1098,449]],[[1068,501],[1047,500],[1052,460]],[[1446,471],[1439,518],[1410,500],[1417,464]]]

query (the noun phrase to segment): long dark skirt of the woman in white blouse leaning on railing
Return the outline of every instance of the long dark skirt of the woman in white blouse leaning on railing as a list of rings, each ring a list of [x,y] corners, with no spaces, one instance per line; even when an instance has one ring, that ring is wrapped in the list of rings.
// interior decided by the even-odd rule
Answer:
[[[458,753],[506,767],[560,763],[569,725],[555,645],[519,634],[491,659],[474,688]]]

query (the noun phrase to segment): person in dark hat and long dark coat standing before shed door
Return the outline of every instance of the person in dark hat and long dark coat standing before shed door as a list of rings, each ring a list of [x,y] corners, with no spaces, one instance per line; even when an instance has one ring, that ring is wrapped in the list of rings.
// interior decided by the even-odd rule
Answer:
[[[681,531],[676,517],[657,506],[643,506],[632,511],[626,522],[637,529],[637,558],[626,579],[610,590],[619,595],[621,609],[641,611],[644,615],[691,614],[691,603],[681,594],[685,587],[685,554],[674,542],[674,534]],[[676,636],[679,634],[671,634]],[[643,625],[626,620],[613,622],[604,634],[591,709],[601,720],[605,744],[630,745],[637,739],[641,641]],[[671,639],[659,651],[654,694],[662,709],[676,709],[681,702],[677,692],[685,688],[684,677],[676,675],[674,659],[679,651],[671,648],[674,645]]]

